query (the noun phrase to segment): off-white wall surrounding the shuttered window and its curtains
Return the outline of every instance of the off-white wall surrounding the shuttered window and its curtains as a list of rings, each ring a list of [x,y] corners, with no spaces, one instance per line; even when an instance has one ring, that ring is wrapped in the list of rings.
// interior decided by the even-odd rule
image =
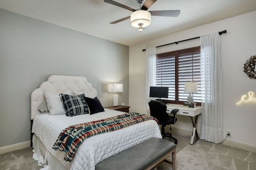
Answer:
[[[158,37],[133,45],[129,49],[130,76],[129,100],[131,111],[144,112],[145,52],[142,49],[154,47],[183,39],[198,37],[227,30],[220,36],[222,57],[222,99],[223,99],[223,138],[231,130],[229,140],[256,147],[256,102],[236,105],[242,95],[254,92],[256,98],[256,79],[250,79],[244,72],[244,63],[256,55],[256,11],[200,27]],[[145,30],[146,31],[146,30]],[[178,45],[157,48],[157,53],[200,46],[200,39],[186,41]],[[201,117],[198,117],[200,132]],[[173,127],[192,131],[190,118],[179,115]]]

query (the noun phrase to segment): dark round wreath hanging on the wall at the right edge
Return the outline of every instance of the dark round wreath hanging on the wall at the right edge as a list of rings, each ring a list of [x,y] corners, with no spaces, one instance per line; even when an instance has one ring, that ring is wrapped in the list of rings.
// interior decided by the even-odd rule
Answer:
[[[244,72],[250,77],[250,79],[256,79],[256,55],[251,56],[246,62],[244,63]]]

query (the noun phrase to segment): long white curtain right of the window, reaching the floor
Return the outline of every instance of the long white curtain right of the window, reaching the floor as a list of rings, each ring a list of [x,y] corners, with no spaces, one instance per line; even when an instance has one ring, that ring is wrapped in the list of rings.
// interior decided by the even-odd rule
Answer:
[[[222,143],[222,82],[220,35],[212,33],[200,37],[202,127],[200,139]]]

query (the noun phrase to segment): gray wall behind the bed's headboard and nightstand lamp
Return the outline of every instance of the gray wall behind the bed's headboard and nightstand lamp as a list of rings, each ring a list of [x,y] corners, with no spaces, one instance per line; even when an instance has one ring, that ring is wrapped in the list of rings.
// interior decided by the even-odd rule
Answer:
[[[93,28],[92,28],[93,29]],[[102,105],[128,105],[129,47],[0,9],[0,147],[30,140],[30,94],[52,74],[85,76]]]

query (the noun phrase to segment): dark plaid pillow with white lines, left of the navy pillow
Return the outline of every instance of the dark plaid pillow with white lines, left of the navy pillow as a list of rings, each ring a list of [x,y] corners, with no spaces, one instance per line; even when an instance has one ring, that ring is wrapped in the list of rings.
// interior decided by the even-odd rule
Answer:
[[[60,94],[60,99],[66,111],[66,116],[89,113],[88,106],[83,97],[84,95],[71,96],[68,94]]]

